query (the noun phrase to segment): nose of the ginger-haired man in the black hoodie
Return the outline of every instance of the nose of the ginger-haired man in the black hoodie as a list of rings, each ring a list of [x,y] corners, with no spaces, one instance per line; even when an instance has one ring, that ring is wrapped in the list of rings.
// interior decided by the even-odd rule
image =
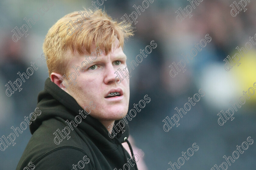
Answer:
[[[104,83],[105,84],[110,84],[110,83],[116,83],[117,82],[120,82],[121,80],[119,79],[119,76],[116,77],[117,75],[115,74],[115,72],[117,70],[114,69],[114,66],[112,65],[112,63],[108,63],[106,65],[106,70],[104,72]]]

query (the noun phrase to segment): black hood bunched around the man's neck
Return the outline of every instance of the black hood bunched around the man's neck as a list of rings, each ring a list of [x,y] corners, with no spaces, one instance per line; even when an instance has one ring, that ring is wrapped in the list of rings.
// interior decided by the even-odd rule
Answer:
[[[41,114],[30,124],[31,134],[33,134],[45,120],[61,117],[65,121],[74,121],[75,116],[79,115],[79,110],[84,110],[72,96],[53,83],[50,78],[45,80],[44,90],[38,94],[37,107],[39,108],[38,110],[41,110]],[[115,121],[115,124],[118,122],[119,120]],[[128,124],[126,124],[123,134],[120,131],[115,136],[116,139],[110,138],[106,127],[103,126],[98,119],[91,117],[90,114],[88,114],[86,118],[82,118],[82,122],[77,124],[75,128],[84,130],[94,143],[102,144],[101,146],[110,144],[109,142],[112,144],[116,143],[116,139],[123,143],[124,138],[128,138],[129,136],[129,127]]]

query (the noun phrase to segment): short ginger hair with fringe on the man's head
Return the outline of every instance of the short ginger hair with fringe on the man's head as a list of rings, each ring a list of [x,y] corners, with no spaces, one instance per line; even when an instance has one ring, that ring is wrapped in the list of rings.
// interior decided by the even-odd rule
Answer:
[[[85,11],[81,12],[83,14]],[[80,55],[91,54],[92,48],[99,46],[100,49],[105,50],[107,55],[111,51],[112,44],[116,38],[119,40],[118,48],[121,46],[123,49],[124,40],[134,35],[131,27],[123,29],[121,22],[118,23],[113,20],[101,9],[88,16],[83,19],[80,13],[72,12],[59,19],[49,29],[43,44],[43,51],[45,56],[48,57],[46,63],[49,76],[53,72],[62,75],[68,73],[71,69],[67,68],[68,61],[76,52]],[[70,24],[70,20],[78,28],[77,30]],[[71,36],[67,34],[67,29],[69,28],[66,25],[67,23],[75,31]],[[81,30],[78,24],[81,24]],[[70,29],[69,32],[71,32]],[[72,54],[71,56],[67,55],[69,50]]]

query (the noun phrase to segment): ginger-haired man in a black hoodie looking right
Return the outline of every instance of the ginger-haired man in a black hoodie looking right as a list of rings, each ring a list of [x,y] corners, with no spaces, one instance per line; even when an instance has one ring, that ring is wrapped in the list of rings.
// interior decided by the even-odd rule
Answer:
[[[128,111],[129,79],[118,84],[114,74],[126,68],[123,43],[132,30],[101,10],[89,17],[84,12],[59,19],[46,35],[50,78],[38,95],[40,114],[31,121],[17,170],[137,169],[121,144],[129,144],[129,128],[120,121]]]

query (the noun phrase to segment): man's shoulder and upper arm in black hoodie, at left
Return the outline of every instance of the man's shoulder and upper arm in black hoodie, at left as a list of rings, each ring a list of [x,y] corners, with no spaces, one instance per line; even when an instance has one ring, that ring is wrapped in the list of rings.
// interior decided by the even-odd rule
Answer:
[[[34,165],[37,170],[70,170],[73,169],[73,164],[77,167],[84,166],[86,169],[95,169],[91,150],[86,140],[82,140],[75,130],[70,132],[70,138],[68,140],[64,134],[63,137],[65,138],[62,139],[57,130],[59,129],[61,131],[65,126],[65,121],[63,122],[59,117],[44,121],[34,132],[27,144],[17,166],[17,170],[22,170],[26,166],[28,167],[29,162],[32,162],[30,165]],[[56,132],[62,140],[59,144],[54,142],[56,136],[54,133]],[[33,168],[29,169],[33,170]]]

